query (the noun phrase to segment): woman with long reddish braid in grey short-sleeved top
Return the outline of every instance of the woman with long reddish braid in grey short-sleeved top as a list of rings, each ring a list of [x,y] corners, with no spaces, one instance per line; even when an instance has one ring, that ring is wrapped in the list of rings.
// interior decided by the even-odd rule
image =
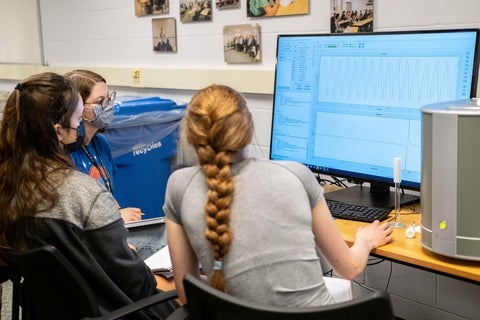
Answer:
[[[175,285],[187,302],[185,274],[206,275],[212,287],[268,305],[335,302],[319,254],[352,280],[372,249],[391,240],[388,223],[360,228],[348,247],[323,189],[305,166],[250,158],[253,120],[244,98],[212,85],[188,105],[183,134],[198,165],[172,173],[164,211]]]

